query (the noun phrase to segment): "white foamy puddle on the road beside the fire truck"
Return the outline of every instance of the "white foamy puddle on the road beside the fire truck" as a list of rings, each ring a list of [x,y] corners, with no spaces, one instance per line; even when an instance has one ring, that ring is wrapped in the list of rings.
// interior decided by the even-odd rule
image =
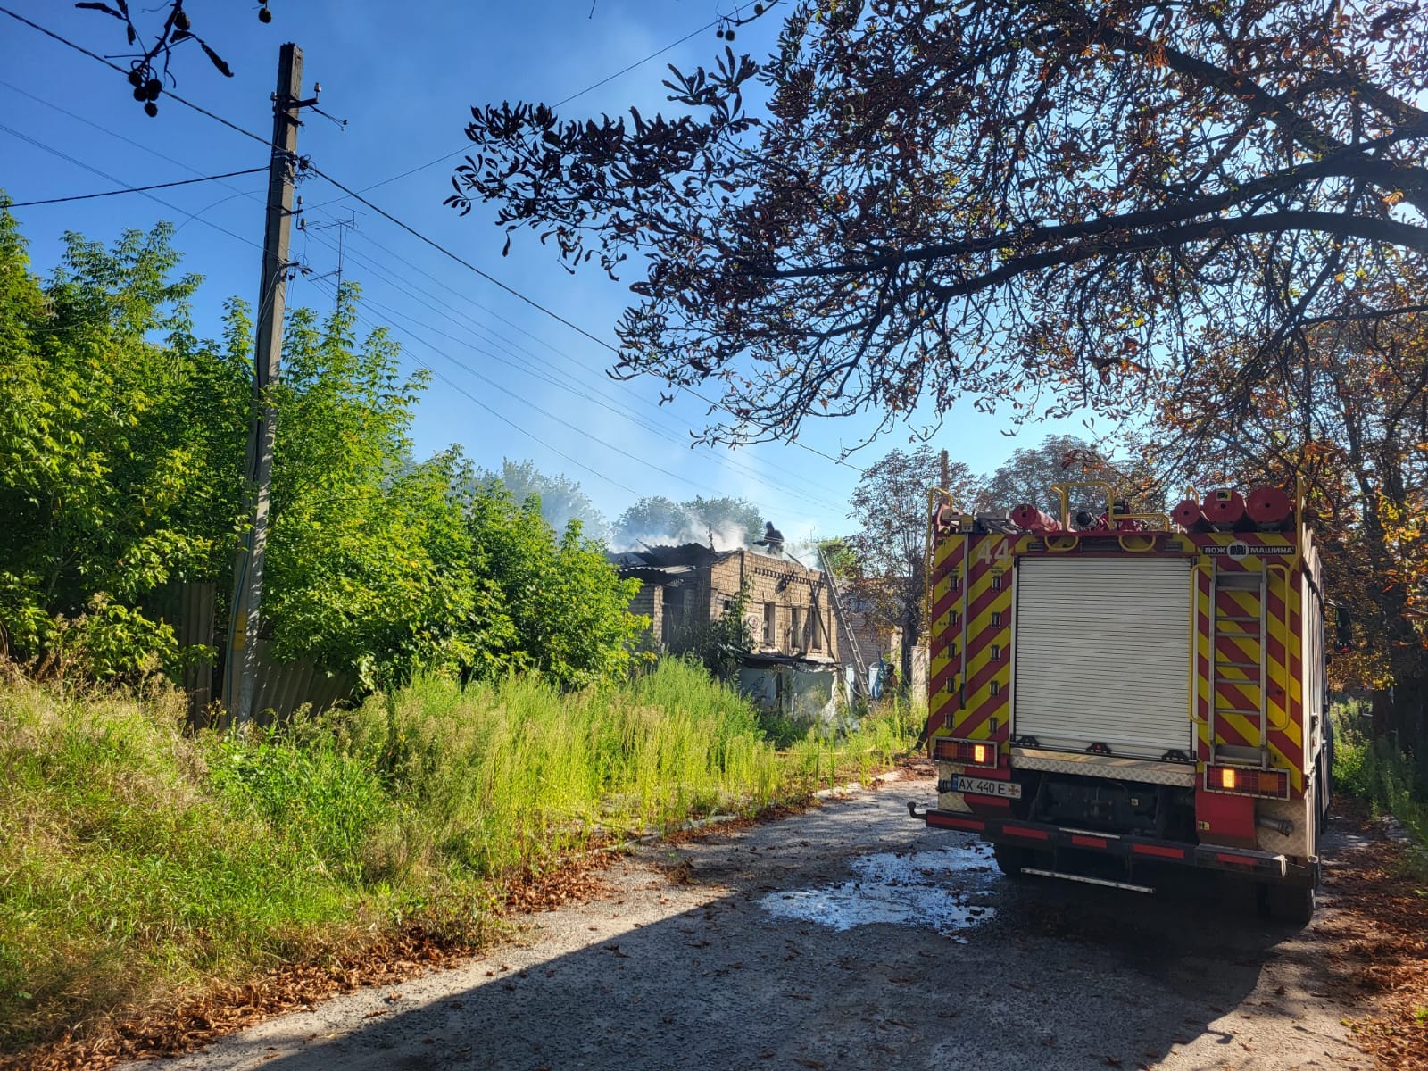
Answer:
[[[780,918],[818,922],[833,930],[891,922],[932,930],[954,940],[960,931],[990,921],[988,905],[1000,874],[985,844],[940,851],[861,855],[857,875],[841,885],[770,892],[758,905]]]

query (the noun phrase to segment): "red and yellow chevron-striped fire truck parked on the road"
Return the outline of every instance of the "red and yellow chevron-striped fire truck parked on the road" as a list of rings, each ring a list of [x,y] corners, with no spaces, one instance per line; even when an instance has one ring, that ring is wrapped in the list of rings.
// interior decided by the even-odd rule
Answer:
[[[1057,493],[1058,517],[932,497],[938,795],[910,811],[1008,874],[1154,891],[1148,871],[1212,868],[1308,921],[1332,741],[1302,501],[1220,490],[1165,516],[1105,484]],[[1072,516],[1090,494],[1104,513]]]

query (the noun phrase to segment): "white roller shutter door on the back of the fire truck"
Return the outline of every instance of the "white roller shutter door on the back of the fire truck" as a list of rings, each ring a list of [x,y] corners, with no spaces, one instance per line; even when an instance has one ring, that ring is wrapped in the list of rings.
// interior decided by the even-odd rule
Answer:
[[[1015,735],[1192,753],[1187,560],[1027,557],[1015,600]]]

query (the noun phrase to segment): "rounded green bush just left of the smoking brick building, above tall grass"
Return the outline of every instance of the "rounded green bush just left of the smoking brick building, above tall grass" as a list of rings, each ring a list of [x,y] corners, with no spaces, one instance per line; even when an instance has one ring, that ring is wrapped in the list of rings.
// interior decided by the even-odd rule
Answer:
[[[555,536],[540,503],[517,506],[504,486],[471,498],[471,574],[491,593],[481,611],[474,668],[497,675],[534,668],[564,687],[625,671],[648,620],[627,613],[640,581],[620,580],[580,521]]]

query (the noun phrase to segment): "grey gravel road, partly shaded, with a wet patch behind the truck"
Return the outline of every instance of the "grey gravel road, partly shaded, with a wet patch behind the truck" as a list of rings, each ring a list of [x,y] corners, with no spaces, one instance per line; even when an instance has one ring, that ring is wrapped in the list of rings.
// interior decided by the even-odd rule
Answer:
[[[650,845],[610,895],[533,915],[487,957],[164,1067],[1371,1067],[1312,931],[1227,917],[1185,875],[1154,897],[1011,881],[907,800],[934,803],[931,780]],[[1329,865],[1349,850],[1331,841]]]

